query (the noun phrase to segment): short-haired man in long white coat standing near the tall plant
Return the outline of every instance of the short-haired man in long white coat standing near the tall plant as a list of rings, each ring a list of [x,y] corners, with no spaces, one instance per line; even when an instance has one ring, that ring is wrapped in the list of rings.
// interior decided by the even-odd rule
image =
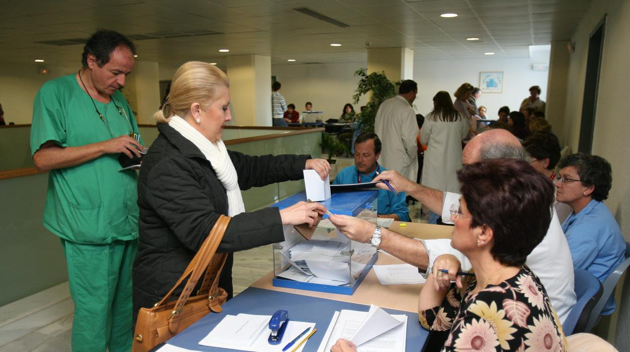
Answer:
[[[374,120],[374,132],[383,144],[381,165],[409,179],[418,177],[418,124],[411,107],[416,94],[416,82],[411,79],[401,82],[398,95],[379,106]]]

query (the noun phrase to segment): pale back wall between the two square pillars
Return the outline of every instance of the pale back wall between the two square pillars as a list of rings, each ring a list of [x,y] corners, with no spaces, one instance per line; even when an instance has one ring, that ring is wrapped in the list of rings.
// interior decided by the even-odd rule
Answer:
[[[272,65],[272,76],[282,83],[280,93],[287,100],[287,105],[295,104],[297,111],[304,111],[307,101],[313,103],[313,110],[324,111],[324,120],[339,118],[343,106],[352,104],[352,95],[357,89],[359,77],[354,72],[365,64],[297,64]],[[271,90],[271,84],[269,89]],[[365,105],[362,97],[353,105],[355,111]]]

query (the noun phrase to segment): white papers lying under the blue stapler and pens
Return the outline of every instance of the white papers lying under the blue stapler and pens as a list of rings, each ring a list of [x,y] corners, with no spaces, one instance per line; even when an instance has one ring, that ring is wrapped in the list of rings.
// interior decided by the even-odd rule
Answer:
[[[281,352],[290,341],[297,338],[307,327],[315,327],[314,323],[289,321],[280,344],[269,344],[267,341],[271,330],[271,315],[226,315],[210,333],[199,342],[203,346],[239,349],[253,352]],[[302,351],[302,344],[297,352]]]

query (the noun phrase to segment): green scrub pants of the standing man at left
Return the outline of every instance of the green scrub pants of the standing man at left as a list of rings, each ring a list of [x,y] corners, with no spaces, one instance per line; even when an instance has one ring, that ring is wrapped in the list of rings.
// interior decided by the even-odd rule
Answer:
[[[77,244],[61,240],[74,301],[72,351],[129,352],[132,268],[138,240]]]

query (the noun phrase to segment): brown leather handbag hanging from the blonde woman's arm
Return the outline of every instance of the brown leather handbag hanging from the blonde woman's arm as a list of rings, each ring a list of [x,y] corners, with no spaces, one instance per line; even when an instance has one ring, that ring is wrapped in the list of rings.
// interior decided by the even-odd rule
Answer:
[[[220,313],[227,300],[227,292],[219,287],[219,276],[226,263],[227,253],[217,254],[217,247],[226,232],[230,217],[221,215],[207,239],[190,261],[175,286],[152,308],[141,308],[135,323],[133,352],[147,352],[172,338],[210,311]],[[190,297],[199,278],[205,272],[197,295]],[[190,275],[180,297],[169,302],[175,289]]]

